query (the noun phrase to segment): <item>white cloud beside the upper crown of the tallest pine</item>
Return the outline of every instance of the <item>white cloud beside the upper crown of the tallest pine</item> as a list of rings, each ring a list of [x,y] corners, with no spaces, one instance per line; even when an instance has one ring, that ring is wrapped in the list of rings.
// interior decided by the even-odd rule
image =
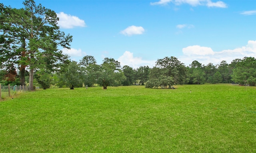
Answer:
[[[71,29],[73,27],[86,27],[84,20],[79,19],[77,16],[71,16],[64,12],[56,13],[59,21],[58,26],[64,29]]]

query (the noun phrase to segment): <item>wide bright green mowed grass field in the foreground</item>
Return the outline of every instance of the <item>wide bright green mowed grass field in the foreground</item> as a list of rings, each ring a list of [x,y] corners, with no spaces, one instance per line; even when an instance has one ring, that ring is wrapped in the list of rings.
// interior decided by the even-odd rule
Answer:
[[[22,93],[0,102],[0,152],[256,152],[255,87],[175,87]]]

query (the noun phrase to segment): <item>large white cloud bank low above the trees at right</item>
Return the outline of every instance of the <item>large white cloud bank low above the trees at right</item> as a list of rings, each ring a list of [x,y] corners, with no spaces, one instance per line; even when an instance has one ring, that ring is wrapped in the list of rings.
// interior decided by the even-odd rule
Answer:
[[[203,65],[213,63],[219,64],[221,61],[231,63],[234,59],[242,59],[244,57],[256,57],[256,41],[248,41],[247,45],[223,51],[213,51],[210,47],[201,47],[199,45],[188,46],[182,49],[183,55],[179,60],[185,65],[190,65],[196,60]]]

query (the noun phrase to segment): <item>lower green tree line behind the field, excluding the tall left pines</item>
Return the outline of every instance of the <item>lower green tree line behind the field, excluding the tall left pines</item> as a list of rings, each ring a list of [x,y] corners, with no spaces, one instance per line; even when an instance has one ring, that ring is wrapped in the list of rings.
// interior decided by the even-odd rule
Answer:
[[[128,65],[121,67],[120,62],[113,58],[104,58],[102,64],[98,65],[93,56],[86,55],[80,62],[70,61],[62,66],[59,71],[36,70],[34,83],[44,89],[50,88],[50,86],[74,89],[85,85],[99,85],[104,89],[107,89],[108,86],[121,85],[173,88],[175,84],[204,83],[238,83],[255,86],[255,62],[254,57],[244,57],[243,59],[234,59],[230,64],[222,61],[218,65],[212,63],[202,65],[198,61],[193,61],[186,67],[176,57],[164,57],[158,59],[153,68],[141,66],[133,69]],[[17,75],[16,72],[1,70],[0,76],[2,77],[2,83],[21,84],[20,75]],[[27,76],[27,80],[29,80],[29,76]]]

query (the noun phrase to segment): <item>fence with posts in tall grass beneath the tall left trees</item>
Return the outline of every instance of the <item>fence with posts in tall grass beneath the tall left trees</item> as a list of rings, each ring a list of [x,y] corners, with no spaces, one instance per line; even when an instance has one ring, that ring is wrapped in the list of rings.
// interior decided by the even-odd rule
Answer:
[[[3,86],[0,84],[0,100],[1,99],[6,99],[8,97],[13,97],[15,94],[18,92],[25,92],[28,90],[28,86],[25,85],[15,85],[15,86]]]

